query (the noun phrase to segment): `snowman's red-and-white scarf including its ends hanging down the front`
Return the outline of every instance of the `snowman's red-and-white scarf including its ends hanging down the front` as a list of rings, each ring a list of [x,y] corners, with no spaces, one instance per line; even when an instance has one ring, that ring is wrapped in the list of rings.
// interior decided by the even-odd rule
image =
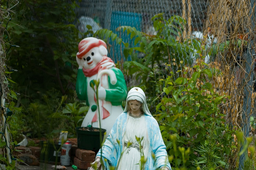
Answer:
[[[101,61],[96,64],[96,66],[93,69],[84,69],[83,68],[83,73],[86,77],[91,77],[95,74],[98,74],[99,71],[103,69],[109,69],[112,67],[116,67],[114,62],[111,60],[111,58],[107,56],[103,56]],[[108,82],[107,83],[102,83],[103,79],[108,80],[108,75],[102,75],[101,77],[101,86],[104,87],[105,89],[109,88]],[[104,81],[103,81],[104,82]],[[105,81],[106,82],[106,81]],[[95,94],[94,94],[94,101],[97,103]],[[110,116],[110,113],[112,112],[112,104],[111,102],[102,100],[101,101],[101,107],[97,108],[93,120],[91,122],[96,122],[98,119],[98,110],[100,109],[100,112],[102,114],[102,119],[105,119]]]

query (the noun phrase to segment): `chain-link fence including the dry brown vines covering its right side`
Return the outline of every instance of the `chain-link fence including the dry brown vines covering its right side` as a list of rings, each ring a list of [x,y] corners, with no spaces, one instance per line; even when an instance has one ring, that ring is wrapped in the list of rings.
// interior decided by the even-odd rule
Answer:
[[[173,63],[187,62],[171,64],[172,70],[178,71],[175,65],[182,68],[185,63],[193,66],[197,61],[220,70],[221,73],[213,75],[209,82],[219,94],[230,96],[221,106],[227,115],[227,123],[242,129],[245,137],[256,134],[255,0],[82,0],[77,4],[80,7],[76,9],[79,19],[76,24],[80,31],[86,32],[87,24],[94,32],[101,28],[110,29],[130,46],[134,39],[116,31],[117,27],[131,26],[155,35],[151,21],[154,15],[163,13],[166,19],[181,16],[184,24],[182,33],[176,37],[177,43],[191,45],[192,39],[196,39],[204,47],[205,55],[202,58],[195,48],[189,55],[173,56]],[[111,44],[109,56],[112,60],[130,60],[124,58],[123,48]],[[136,84],[128,84],[131,85]],[[240,156],[240,169],[244,156]]]

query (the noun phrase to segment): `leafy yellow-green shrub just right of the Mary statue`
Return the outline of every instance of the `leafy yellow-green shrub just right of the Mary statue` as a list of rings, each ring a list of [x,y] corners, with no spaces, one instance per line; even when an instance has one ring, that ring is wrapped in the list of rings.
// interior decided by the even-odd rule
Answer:
[[[176,169],[182,165],[182,152],[175,147],[190,148],[183,164],[189,169],[226,169],[232,150],[234,131],[225,124],[225,115],[219,104],[227,96],[220,96],[212,89],[209,79],[215,69],[195,65],[190,77],[184,67],[183,77],[173,80],[173,73],[162,80],[164,97],[158,103],[156,115],[169,155],[173,155]],[[217,73],[217,72],[216,72]],[[175,134],[176,140],[170,139]],[[183,158],[184,159],[184,158]]]

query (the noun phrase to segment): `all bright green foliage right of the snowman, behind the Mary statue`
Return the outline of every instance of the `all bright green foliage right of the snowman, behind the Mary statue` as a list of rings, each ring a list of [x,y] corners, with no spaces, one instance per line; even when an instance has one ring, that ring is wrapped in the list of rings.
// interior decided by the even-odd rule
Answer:
[[[221,76],[221,71],[203,62],[207,54],[214,57],[228,50],[229,43],[206,47],[198,39],[176,39],[185,24],[180,16],[166,20],[163,14],[158,14],[152,21],[157,35],[120,26],[117,30],[134,39],[135,47],[130,48],[122,40],[118,42],[125,46],[125,57],[132,58],[124,62],[124,72],[135,77],[147,95],[150,111],[160,124],[172,169],[237,169],[238,152],[241,155],[246,151],[239,151],[244,139],[235,126],[226,123],[226,115],[220,109],[229,96],[219,95],[212,87],[212,76]],[[110,30],[100,30],[95,36],[105,41],[116,38]],[[197,62],[190,58],[194,50]],[[143,57],[139,58],[139,53]],[[236,142],[235,135],[241,143]],[[254,167],[253,162],[255,155],[245,167]]]

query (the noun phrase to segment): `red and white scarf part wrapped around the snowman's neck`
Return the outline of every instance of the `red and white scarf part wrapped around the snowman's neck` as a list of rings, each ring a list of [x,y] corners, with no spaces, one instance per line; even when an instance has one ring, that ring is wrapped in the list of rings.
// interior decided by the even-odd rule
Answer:
[[[83,68],[83,73],[86,77],[91,77],[97,74],[99,71],[103,69],[111,68],[111,67],[116,67],[116,65],[114,64],[114,61],[112,61],[111,58],[107,56],[103,56],[101,61],[99,61],[99,63],[97,63],[94,68],[92,69]]]

